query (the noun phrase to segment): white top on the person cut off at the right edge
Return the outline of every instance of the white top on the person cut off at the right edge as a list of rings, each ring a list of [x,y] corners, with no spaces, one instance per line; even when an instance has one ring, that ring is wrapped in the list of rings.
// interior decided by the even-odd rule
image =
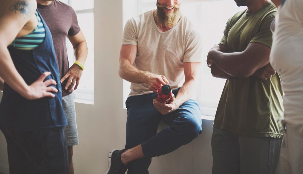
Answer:
[[[303,124],[303,0],[278,9],[270,63],[281,77],[286,122]]]

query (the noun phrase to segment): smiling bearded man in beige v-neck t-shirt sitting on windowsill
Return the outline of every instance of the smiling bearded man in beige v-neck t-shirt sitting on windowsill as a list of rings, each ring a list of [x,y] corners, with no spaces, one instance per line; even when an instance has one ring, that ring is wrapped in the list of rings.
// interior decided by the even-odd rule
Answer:
[[[125,25],[119,75],[131,82],[126,145],[109,153],[105,174],[127,169],[128,174],[148,174],[152,157],[170,153],[202,133],[200,107],[191,99],[199,76],[201,39],[179,6],[179,0],[158,0],[156,10]],[[167,104],[155,100],[165,84],[173,92]],[[169,127],[157,133],[161,120]]]

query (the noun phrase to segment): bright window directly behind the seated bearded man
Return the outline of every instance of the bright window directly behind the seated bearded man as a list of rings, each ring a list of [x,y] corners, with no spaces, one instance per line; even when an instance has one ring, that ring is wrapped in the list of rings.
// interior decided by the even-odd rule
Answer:
[[[133,0],[136,9],[123,9],[123,15],[128,18],[144,13],[145,11],[156,8],[156,0]],[[223,36],[223,31],[228,18],[242,11],[246,7],[237,7],[233,0],[182,0],[181,12],[187,16],[201,31],[203,42],[203,60],[201,67],[200,82],[196,92],[196,99],[201,106],[201,114],[205,116],[215,116],[218,102],[221,97],[224,79],[212,77],[210,69],[206,65],[208,51],[218,44]],[[124,24],[128,18],[123,18]],[[123,82],[124,103],[130,91],[130,83]],[[126,94],[125,94],[126,93]]]

